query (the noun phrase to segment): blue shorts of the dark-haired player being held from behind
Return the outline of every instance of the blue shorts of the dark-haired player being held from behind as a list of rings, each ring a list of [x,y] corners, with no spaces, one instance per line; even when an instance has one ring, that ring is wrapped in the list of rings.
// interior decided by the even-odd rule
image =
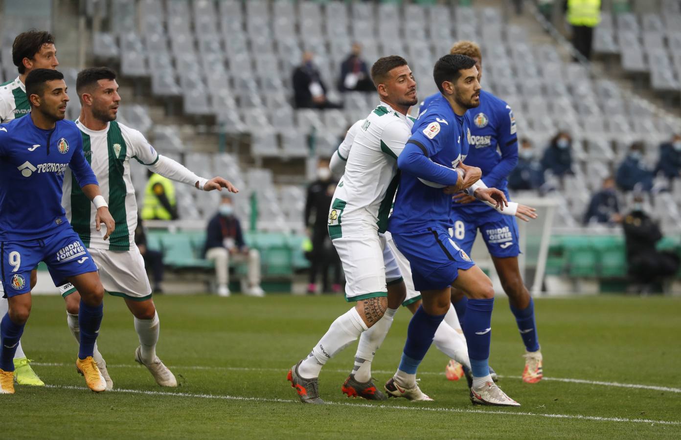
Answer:
[[[445,229],[392,234],[398,250],[411,265],[414,289],[447,288],[459,276],[459,269],[471,269],[473,260],[449,238]]]

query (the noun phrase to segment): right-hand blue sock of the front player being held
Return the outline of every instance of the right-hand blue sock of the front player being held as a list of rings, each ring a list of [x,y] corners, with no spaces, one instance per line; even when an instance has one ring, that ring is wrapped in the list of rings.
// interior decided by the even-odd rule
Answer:
[[[469,299],[466,308],[466,320],[462,329],[466,337],[474,377],[485,377],[490,374],[487,361],[490,358],[493,308],[494,298]]]

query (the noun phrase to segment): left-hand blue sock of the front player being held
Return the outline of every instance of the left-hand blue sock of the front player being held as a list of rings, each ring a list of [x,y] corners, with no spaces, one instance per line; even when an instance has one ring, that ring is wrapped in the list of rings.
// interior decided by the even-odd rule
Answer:
[[[419,307],[407,328],[407,342],[400,361],[401,371],[416,374],[416,369],[426,356],[435,331],[443,319],[445,315],[429,315],[423,307]]]

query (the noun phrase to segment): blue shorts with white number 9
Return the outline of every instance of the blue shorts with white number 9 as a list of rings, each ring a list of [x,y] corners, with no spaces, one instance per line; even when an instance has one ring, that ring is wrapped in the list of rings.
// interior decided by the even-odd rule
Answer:
[[[97,271],[85,245],[70,227],[44,239],[1,241],[0,258],[5,297],[30,292],[31,271],[41,261],[47,264],[54,286],[65,284],[67,277]]]

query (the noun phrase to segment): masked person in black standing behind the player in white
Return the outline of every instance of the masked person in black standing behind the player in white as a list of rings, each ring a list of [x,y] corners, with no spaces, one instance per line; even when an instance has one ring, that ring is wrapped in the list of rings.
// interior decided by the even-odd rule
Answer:
[[[329,208],[336,190],[329,160],[320,158],[317,163],[317,179],[307,188],[304,222],[308,235],[312,240],[310,252],[310,282],[307,292],[316,292],[317,275],[321,272],[322,291],[329,291],[329,271],[333,269],[334,278],[331,286],[333,292],[340,292],[340,258],[331,243],[328,232]]]

